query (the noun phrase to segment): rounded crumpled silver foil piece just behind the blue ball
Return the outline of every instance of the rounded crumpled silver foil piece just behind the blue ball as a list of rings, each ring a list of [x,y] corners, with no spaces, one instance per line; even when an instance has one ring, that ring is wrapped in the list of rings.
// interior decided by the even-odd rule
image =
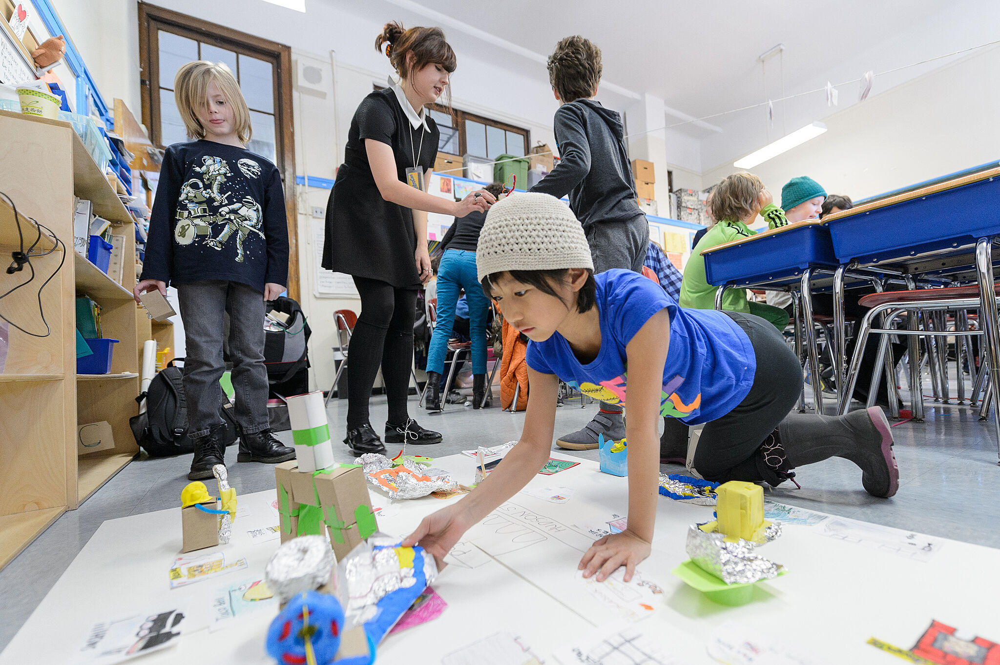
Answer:
[[[292,538],[278,547],[264,568],[264,581],[282,603],[330,581],[337,563],[330,543],[320,535]]]

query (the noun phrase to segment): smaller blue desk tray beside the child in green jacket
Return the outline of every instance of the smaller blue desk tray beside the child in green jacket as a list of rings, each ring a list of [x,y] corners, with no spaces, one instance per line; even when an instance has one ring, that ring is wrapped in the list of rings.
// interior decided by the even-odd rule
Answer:
[[[705,277],[716,287],[745,286],[797,277],[809,267],[836,268],[830,232],[819,224],[796,224],[705,255]]]

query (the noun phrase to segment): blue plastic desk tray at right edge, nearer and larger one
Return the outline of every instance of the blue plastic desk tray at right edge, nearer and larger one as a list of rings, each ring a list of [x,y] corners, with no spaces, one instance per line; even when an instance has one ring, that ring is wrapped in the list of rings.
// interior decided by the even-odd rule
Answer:
[[[884,208],[832,219],[833,251],[841,263],[871,265],[928,252],[957,250],[1000,235],[1000,178],[916,196]]]

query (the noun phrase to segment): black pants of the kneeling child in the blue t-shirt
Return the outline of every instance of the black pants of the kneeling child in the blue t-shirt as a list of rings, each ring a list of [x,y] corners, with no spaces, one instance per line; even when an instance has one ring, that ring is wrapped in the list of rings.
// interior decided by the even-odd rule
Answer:
[[[802,367],[781,333],[767,321],[726,312],[750,337],[757,371],[750,392],[733,410],[705,424],[698,439],[694,467],[707,480],[777,481],[774,469],[757,454],[795,406],[802,390]],[[688,425],[666,418],[665,440],[686,441]]]

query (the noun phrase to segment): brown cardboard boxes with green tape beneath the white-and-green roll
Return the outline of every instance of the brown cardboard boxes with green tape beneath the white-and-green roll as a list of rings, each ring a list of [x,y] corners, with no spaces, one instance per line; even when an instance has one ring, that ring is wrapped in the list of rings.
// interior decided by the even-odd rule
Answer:
[[[298,462],[292,460],[277,464],[274,476],[282,542],[299,535],[319,535],[325,529],[340,560],[378,527],[359,465],[334,464],[313,474],[299,471]]]

